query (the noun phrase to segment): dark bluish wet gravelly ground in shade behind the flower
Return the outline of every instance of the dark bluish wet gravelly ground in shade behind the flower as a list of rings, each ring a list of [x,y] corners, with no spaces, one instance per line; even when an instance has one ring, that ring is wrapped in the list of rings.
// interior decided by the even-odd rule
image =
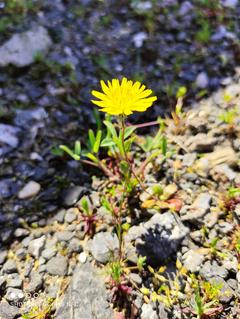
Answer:
[[[156,105],[133,119],[144,122],[171,110],[180,86],[187,87],[191,105],[227,84],[240,61],[240,4],[56,0],[0,7],[0,44],[37,25],[53,41],[47,56],[29,67],[0,72],[0,123],[19,129],[18,146],[0,155],[4,243],[21,217],[44,224],[62,206],[69,186],[90,185],[89,169],[60,157],[57,146],[76,138],[84,142],[87,128],[94,127],[90,91],[100,79],[124,75],[152,88]],[[31,112],[39,109],[34,120]],[[29,180],[38,182],[41,192],[19,200],[18,191]]]

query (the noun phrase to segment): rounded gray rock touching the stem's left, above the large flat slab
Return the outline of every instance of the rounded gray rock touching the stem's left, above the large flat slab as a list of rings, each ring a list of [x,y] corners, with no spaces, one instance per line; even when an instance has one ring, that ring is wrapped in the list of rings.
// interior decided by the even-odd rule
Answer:
[[[88,247],[93,257],[105,264],[118,253],[119,241],[116,234],[111,235],[107,232],[101,232],[93,237]]]

